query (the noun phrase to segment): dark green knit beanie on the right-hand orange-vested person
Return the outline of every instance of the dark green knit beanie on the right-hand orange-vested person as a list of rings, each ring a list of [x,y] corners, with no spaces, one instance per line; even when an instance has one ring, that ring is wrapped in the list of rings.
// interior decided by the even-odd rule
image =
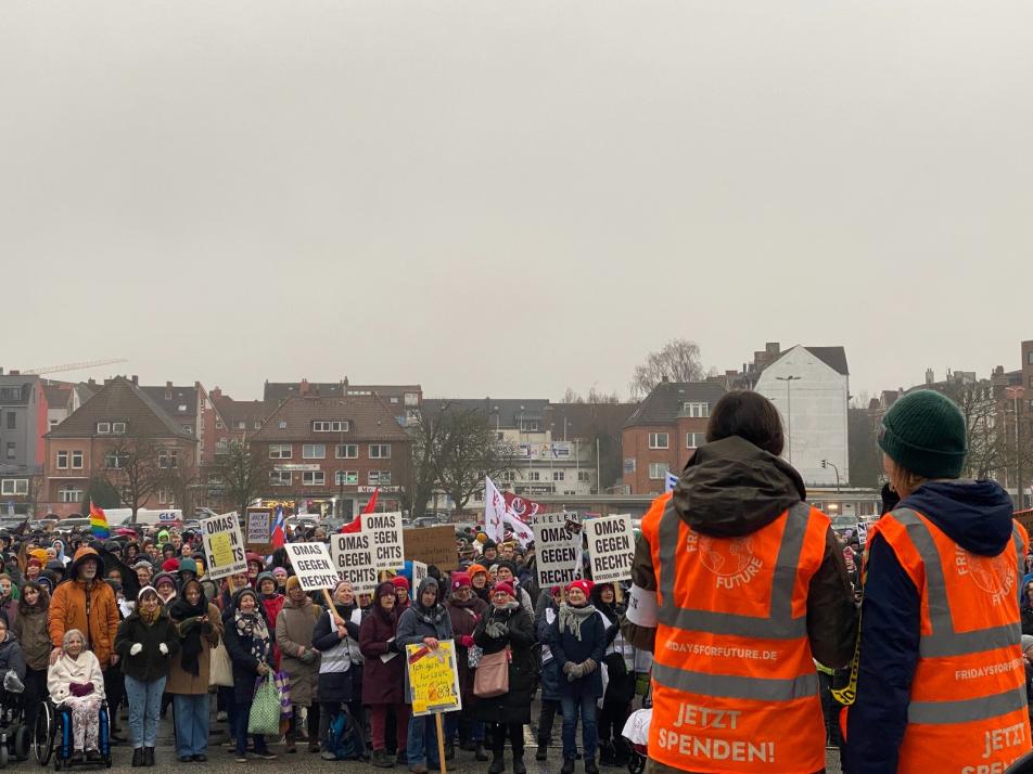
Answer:
[[[957,478],[968,453],[965,417],[949,398],[917,390],[885,413],[879,447],[905,470],[926,478]]]

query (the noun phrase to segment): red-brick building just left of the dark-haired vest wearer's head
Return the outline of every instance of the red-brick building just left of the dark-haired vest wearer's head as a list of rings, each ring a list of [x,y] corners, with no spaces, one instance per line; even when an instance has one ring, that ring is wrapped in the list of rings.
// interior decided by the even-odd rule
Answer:
[[[666,473],[678,474],[704,442],[717,382],[662,382],[624,425],[624,485],[632,494],[662,494]]]

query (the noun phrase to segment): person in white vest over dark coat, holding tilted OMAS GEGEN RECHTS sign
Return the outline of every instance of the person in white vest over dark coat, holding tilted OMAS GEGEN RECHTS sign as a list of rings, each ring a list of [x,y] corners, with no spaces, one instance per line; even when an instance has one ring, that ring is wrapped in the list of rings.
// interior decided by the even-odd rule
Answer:
[[[352,584],[339,581],[333,590],[333,610],[327,610],[319,617],[313,632],[313,647],[321,654],[319,662],[319,739],[322,743],[320,757],[324,761],[337,760],[337,753],[331,748],[328,735],[334,717],[341,714],[342,706],[353,699],[352,650],[358,653],[359,628],[349,619],[354,599]],[[355,667],[361,669],[361,667]]]

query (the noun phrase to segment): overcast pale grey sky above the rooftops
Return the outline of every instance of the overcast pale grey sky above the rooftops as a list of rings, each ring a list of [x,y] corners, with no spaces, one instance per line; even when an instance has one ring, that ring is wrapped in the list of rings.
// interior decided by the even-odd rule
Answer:
[[[0,365],[553,399],[678,336],[843,345],[855,395],[1015,369],[1031,91],[1024,0],[9,0]]]

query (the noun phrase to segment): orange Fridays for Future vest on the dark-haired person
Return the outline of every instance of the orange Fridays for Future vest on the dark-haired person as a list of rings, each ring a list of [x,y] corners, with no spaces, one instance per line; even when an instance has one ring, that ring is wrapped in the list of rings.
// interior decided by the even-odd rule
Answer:
[[[658,588],[649,757],[692,772],[822,770],[807,590],[828,516],[798,503],[752,534],[712,538],[665,494],[641,529]]]

